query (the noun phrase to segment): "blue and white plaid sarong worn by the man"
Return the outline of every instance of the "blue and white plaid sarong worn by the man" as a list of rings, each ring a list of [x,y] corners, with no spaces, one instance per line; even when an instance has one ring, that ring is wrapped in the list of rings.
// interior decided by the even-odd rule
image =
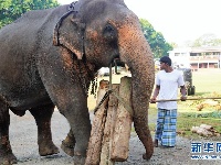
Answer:
[[[158,109],[155,139],[164,146],[175,146],[177,130],[177,109]]]

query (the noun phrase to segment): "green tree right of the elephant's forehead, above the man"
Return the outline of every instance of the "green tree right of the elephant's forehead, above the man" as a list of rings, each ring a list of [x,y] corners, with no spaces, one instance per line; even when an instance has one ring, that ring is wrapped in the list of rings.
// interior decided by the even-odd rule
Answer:
[[[149,46],[154,53],[155,58],[168,55],[168,51],[172,50],[172,45],[165,41],[160,32],[156,32],[152,25],[145,19],[140,19],[141,30]]]

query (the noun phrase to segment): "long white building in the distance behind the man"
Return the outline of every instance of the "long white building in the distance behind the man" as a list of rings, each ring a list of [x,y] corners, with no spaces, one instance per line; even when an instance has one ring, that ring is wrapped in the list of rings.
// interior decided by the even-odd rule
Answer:
[[[186,47],[169,51],[173,67],[221,68],[221,47]]]

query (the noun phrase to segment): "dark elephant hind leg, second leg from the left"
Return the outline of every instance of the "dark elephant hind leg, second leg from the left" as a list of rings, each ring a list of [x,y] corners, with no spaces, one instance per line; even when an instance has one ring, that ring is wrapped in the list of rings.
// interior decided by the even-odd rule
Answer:
[[[54,112],[54,105],[45,105],[30,109],[38,125],[38,144],[41,156],[53,155],[59,153],[59,148],[52,142],[51,118]]]

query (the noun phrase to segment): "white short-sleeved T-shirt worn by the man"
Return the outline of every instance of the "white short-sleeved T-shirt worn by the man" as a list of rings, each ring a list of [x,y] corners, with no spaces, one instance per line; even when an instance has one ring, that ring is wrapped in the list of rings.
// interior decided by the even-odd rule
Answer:
[[[185,85],[185,80],[181,73],[178,70],[172,70],[171,73],[160,70],[157,73],[156,85],[160,86],[158,100],[177,99],[178,88]],[[169,110],[177,109],[177,101],[158,102],[157,108]]]

